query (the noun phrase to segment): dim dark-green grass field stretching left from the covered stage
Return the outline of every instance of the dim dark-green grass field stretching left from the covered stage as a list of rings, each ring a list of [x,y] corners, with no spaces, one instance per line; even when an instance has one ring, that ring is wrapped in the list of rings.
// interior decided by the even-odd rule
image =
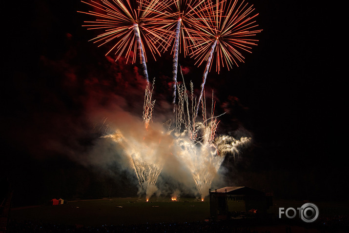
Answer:
[[[157,222],[203,221],[209,217],[209,203],[195,199],[112,198],[76,200],[58,206],[15,208],[10,217],[71,225],[101,226]]]

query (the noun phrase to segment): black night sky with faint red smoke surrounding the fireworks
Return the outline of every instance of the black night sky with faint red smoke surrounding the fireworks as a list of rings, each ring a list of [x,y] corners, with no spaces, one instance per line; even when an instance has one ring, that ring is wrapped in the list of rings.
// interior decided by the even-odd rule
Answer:
[[[249,3],[260,13],[258,46],[239,67],[219,75],[212,70],[205,85],[207,96],[214,91],[216,115],[229,110],[218,133],[253,138],[237,162],[226,158],[225,186],[275,198],[344,200],[347,90],[340,41],[330,33],[336,31],[331,7]],[[142,116],[140,65],[115,62],[104,56],[107,46],[88,41],[95,32],[81,26],[86,16],[77,11],[87,8],[78,0],[6,4],[13,5],[4,7],[2,27],[0,175],[15,191],[14,205],[136,195],[126,170],[110,164],[106,173],[84,156],[99,136],[91,117],[118,109]],[[149,77],[156,77],[154,120],[164,121],[171,110],[172,64],[169,53],[157,59],[149,53],[147,66]],[[186,82],[198,89],[204,68],[189,57],[179,63]]]

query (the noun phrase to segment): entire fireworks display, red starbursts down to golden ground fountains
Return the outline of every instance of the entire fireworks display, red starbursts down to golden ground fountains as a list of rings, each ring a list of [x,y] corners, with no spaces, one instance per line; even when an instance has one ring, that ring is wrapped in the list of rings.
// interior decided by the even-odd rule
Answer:
[[[190,172],[196,194],[204,200],[225,156],[229,153],[235,157],[239,149],[251,140],[216,136],[219,119],[214,116],[213,98],[207,117],[205,81],[214,59],[218,72],[221,66],[229,69],[238,65],[237,61],[244,61],[241,52],[250,52],[251,46],[258,41],[253,39],[254,36],[262,31],[255,29],[258,25],[254,18],[258,14],[252,14],[254,9],[243,0],[241,3],[238,0],[82,2],[93,10],[81,13],[95,19],[85,21],[83,26],[102,31],[92,40],[99,46],[114,44],[106,55],[115,51],[116,59],[123,56],[126,62],[131,57],[132,63],[138,60],[146,82],[142,134],[126,134],[114,129],[112,134],[103,137],[111,138],[123,148],[129,167],[138,179],[140,194],[145,194],[147,200],[158,190],[156,183],[164,164],[174,158]],[[155,83],[150,83],[148,78],[146,53],[150,52],[156,59],[171,46],[174,114],[170,121],[173,123],[164,124],[166,127],[159,129],[152,127]],[[181,52],[194,58],[198,65],[206,64],[198,99],[194,96],[191,82],[190,91],[187,91],[184,78],[181,83],[177,81],[178,54]]]

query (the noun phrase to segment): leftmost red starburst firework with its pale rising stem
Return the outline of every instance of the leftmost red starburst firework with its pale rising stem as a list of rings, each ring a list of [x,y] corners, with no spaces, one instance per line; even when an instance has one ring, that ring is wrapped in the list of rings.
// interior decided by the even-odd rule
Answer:
[[[160,55],[159,46],[166,45],[164,31],[156,24],[156,11],[162,11],[160,0],[90,0],[82,1],[94,8],[94,11],[81,12],[96,17],[95,21],[84,21],[88,29],[102,30],[103,33],[91,39],[102,46],[105,43],[114,42],[114,46],[106,53],[115,51],[116,60],[125,56],[126,62],[132,57],[132,63],[139,57],[144,70],[144,78],[147,82],[148,72],[146,68],[146,54],[144,42],[155,58]],[[150,11],[149,9],[153,9]]]

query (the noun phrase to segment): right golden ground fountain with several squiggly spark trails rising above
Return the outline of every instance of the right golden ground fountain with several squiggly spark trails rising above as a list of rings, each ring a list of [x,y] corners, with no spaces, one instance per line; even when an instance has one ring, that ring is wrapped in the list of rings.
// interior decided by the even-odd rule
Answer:
[[[192,84],[191,84],[192,86]],[[192,88],[191,88],[192,89]],[[195,104],[191,93],[191,104],[186,94],[185,83],[179,86],[179,106],[175,141],[178,146],[177,156],[190,170],[201,199],[204,200],[208,189],[227,153],[236,155],[238,148],[250,142],[251,138],[242,137],[237,140],[231,136],[215,137],[218,125],[217,117],[213,116],[214,102],[212,99],[211,117],[206,117],[205,101],[202,102],[203,120],[196,121]],[[213,96],[213,95],[212,95]],[[188,106],[192,106],[189,111]],[[197,108],[196,108],[197,109]],[[192,120],[190,120],[192,119]],[[181,131],[181,126],[184,130]]]

